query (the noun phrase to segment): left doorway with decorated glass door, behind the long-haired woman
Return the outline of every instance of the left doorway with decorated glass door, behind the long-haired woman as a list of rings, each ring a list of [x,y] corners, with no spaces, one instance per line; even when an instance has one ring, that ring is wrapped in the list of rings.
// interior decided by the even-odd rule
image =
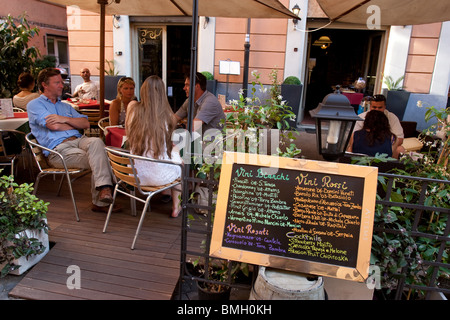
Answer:
[[[190,68],[191,26],[142,26],[137,28],[139,75],[137,86],[151,75],[166,84],[167,97],[173,111],[186,100],[183,91],[185,75]]]

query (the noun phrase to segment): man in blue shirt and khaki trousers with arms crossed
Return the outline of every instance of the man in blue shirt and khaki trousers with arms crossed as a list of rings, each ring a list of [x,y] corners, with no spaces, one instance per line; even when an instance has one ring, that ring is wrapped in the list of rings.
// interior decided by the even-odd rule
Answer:
[[[42,70],[37,80],[42,95],[29,102],[27,108],[31,132],[44,147],[62,154],[69,168],[92,170],[92,210],[107,212],[112,203],[112,173],[103,141],[78,131],[89,128],[89,121],[61,102],[64,82],[58,69]],[[44,155],[51,166],[63,168],[57,155],[47,151]]]

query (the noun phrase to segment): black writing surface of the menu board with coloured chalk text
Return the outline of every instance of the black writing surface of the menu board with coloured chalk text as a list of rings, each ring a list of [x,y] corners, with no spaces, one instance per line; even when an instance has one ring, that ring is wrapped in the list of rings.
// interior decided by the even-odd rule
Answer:
[[[223,246],[355,267],[364,179],[233,166]]]

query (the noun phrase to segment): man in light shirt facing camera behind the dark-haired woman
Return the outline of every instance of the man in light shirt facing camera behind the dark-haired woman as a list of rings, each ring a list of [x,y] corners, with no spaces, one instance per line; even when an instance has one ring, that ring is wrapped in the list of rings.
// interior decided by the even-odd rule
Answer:
[[[400,120],[397,118],[395,114],[392,112],[389,112],[386,110],[386,97],[382,94],[376,94],[373,96],[373,98],[370,100],[370,110],[378,110],[383,112],[386,117],[389,120],[389,126],[391,129],[391,132],[397,137],[398,139],[398,146],[397,146],[397,152],[398,154],[404,153],[405,148],[402,147],[403,139],[405,138],[405,135],[403,133],[402,125],[400,124]],[[363,112],[359,115],[362,119],[366,118],[366,115],[369,111]],[[353,132],[361,130],[363,128],[364,121],[356,121],[355,128],[353,129]]]

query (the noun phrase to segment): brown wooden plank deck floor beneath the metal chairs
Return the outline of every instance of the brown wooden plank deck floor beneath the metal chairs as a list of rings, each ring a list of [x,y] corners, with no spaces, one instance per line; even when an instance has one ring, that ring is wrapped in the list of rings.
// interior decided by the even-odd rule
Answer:
[[[102,233],[106,214],[90,210],[90,175],[74,183],[80,222],[76,222],[68,189],[56,196],[52,177],[42,180],[37,196],[50,202],[49,253],[10,292],[13,298],[68,299],[159,299],[167,300],[179,277],[181,218],[169,218],[171,204],[152,200],[135,250],[130,246],[140,215],[130,214],[129,200],[119,196],[124,210],[113,214]],[[69,289],[69,266],[78,266],[81,288]]]

